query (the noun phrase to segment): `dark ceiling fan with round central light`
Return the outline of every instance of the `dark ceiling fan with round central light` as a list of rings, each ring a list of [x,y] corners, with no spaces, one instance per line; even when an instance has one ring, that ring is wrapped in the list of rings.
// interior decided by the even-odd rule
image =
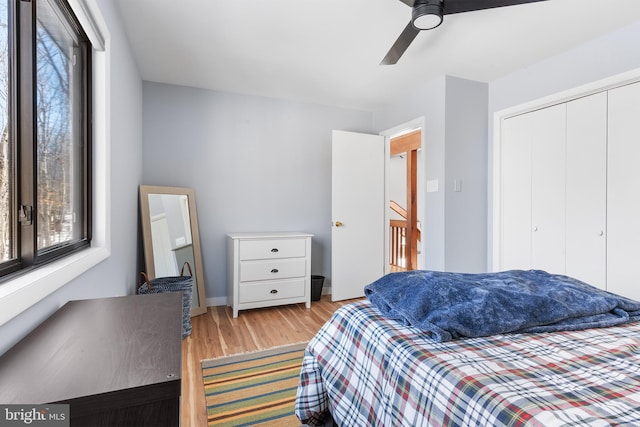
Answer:
[[[380,65],[398,62],[413,39],[422,30],[432,30],[442,24],[442,17],[452,13],[471,12],[495,7],[513,6],[545,0],[400,0],[412,8],[411,21],[391,46]]]

